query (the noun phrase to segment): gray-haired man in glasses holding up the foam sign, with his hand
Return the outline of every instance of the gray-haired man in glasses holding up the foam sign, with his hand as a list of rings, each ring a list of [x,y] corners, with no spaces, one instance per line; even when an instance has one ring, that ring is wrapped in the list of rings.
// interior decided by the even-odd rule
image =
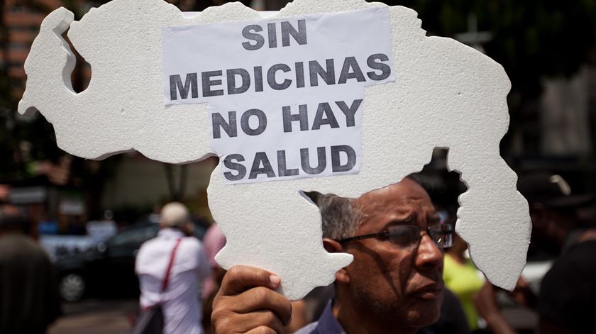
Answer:
[[[406,178],[358,199],[319,200],[323,243],[354,262],[336,274],[336,299],[318,323],[297,333],[416,333],[434,323],[443,300],[443,247],[452,230],[440,223],[426,191]],[[289,301],[280,278],[233,267],[214,300],[216,333],[283,333]]]

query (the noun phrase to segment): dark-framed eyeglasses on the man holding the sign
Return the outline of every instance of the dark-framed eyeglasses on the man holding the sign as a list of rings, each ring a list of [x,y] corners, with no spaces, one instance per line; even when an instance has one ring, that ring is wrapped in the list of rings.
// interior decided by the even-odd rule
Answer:
[[[425,230],[431,240],[440,248],[453,246],[453,226],[451,224],[438,224],[427,228],[421,228],[415,225],[394,225],[380,233],[358,235],[351,238],[336,240],[342,245],[356,240],[368,238],[378,238],[380,240],[389,240],[390,243],[404,249],[414,249],[420,243],[422,238],[421,230]]]

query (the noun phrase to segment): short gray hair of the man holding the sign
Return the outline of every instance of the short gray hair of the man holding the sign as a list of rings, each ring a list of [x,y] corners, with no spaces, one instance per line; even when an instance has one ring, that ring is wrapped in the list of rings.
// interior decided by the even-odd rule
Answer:
[[[307,196],[321,211],[323,238],[341,240],[355,235],[362,223],[362,213],[353,206],[354,199],[316,191],[307,193]]]

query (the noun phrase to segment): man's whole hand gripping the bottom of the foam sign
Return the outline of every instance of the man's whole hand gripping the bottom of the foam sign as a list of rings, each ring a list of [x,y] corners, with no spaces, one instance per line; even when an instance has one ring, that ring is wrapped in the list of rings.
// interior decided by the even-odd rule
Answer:
[[[280,277],[266,270],[231,267],[213,301],[214,333],[283,334],[292,306],[273,291],[278,286]]]

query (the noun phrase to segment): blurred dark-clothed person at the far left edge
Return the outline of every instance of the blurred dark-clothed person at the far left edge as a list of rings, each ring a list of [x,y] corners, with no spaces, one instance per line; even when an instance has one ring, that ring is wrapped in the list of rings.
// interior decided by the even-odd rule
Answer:
[[[45,333],[60,316],[54,268],[40,245],[23,233],[26,220],[0,206],[0,333]]]

